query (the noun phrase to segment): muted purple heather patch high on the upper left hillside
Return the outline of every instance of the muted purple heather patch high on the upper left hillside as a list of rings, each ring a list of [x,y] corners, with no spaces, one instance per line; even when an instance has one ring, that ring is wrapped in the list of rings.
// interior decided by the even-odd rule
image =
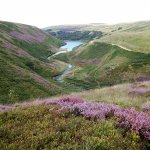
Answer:
[[[12,31],[10,32],[10,35],[17,39],[21,39],[31,43],[42,43],[46,38],[46,35],[40,32],[31,34],[28,33],[27,31],[24,32]]]

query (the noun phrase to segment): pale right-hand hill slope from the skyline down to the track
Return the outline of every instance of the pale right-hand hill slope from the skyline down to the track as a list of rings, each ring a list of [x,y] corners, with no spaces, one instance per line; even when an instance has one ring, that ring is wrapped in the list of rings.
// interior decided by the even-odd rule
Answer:
[[[120,30],[117,30],[120,28]],[[150,53],[150,21],[119,24],[100,41],[115,43],[138,52]]]

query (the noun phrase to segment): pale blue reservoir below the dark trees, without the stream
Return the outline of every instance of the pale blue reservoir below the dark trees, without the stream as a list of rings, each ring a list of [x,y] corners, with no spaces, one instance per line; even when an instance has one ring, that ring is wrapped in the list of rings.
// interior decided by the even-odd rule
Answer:
[[[68,52],[72,51],[72,49],[76,46],[79,46],[81,45],[82,42],[80,41],[69,41],[69,42],[66,42],[66,45],[62,46],[61,48],[62,49],[67,49]]]

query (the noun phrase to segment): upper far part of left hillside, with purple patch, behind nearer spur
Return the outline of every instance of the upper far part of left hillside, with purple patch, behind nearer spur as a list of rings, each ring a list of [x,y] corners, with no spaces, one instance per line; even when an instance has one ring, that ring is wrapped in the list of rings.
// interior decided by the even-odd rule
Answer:
[[[42,30],[23,24],[0,22],[0,35],[2,47],[16,46],[40,60],[47,60],[47,56],[63,44]]]

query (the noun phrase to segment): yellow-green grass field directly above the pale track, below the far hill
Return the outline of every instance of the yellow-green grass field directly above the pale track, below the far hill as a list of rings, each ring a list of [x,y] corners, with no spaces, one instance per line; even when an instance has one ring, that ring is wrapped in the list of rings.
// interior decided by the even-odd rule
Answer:
[[[98,41],[118,44],[137,52],[150,53],[149,33],[150,31],[117,32],[104,36]]]

